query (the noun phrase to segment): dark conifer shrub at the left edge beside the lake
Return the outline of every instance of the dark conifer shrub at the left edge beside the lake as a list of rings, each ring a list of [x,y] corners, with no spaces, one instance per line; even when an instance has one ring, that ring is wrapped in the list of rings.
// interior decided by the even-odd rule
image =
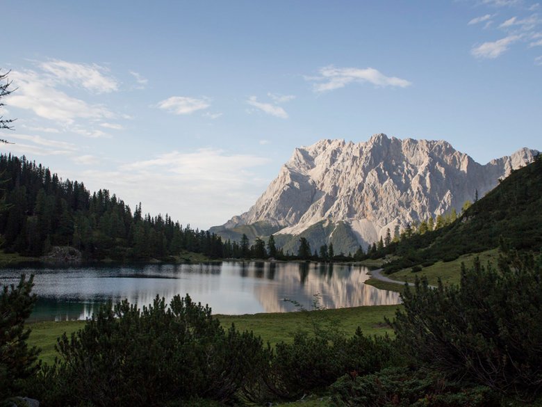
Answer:
[[[30,329],[24,326],[35,303],[32,287],[33,276],[22,275],[17,286],[5,285],[0,292],[0,403],[17,396],[24,379],[39,369],[38,350],[28,348]]]

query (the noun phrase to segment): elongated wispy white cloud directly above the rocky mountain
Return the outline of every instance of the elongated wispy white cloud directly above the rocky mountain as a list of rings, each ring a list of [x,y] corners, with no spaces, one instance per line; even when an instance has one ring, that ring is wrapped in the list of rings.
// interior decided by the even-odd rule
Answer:
[[[359,68],[338,68],[332,65],[320,68],[320,77],[307,77],[309,81],[315,81],[313,84],[313,90],[315,92],[326,92],[327,90],[334,90],[344,88],[348,83],[372,83],[375,86],[398,86],[400,88],[406,88],[412,83],[406,79],[397,77],[386,77],[378,70],[372,67],[365,69]]]

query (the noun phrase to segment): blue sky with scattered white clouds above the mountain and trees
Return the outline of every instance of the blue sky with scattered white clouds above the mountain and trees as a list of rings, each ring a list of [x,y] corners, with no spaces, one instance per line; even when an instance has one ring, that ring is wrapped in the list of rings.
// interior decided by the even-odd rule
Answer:
[[[542,5],[527,0],[0,0],[16,118],[1,152],[209,228],[295,147],[446,140],[542,150]]]

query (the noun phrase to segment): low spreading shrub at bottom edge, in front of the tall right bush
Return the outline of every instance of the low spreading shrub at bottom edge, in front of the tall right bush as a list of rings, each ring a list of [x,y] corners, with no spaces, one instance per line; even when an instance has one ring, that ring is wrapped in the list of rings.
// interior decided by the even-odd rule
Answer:
[[[331,385],[335,406],[492,407],[491,389],[449,381],[438,372],[393,367],[366,376],[345,375]]]

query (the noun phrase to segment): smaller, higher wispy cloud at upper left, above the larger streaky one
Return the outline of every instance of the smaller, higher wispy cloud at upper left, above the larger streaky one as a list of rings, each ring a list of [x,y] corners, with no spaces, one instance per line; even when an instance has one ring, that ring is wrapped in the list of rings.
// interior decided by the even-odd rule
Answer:
[[[106,75],[106,72],[109,72],[108,68],[97,64],[54,60],[42,62],[40,67],[58,83],[81,86],[93,93],[110,93],[118,90],[117,81]]]

